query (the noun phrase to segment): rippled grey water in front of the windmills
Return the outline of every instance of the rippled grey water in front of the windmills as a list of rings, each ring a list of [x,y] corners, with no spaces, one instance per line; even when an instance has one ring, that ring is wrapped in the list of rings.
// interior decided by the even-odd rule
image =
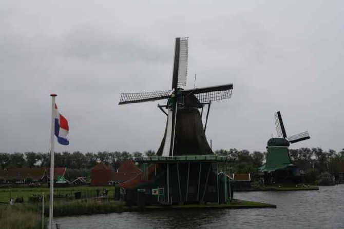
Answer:
[[[125,212],[55,219],[61,228],[344,228],[344,184],[319,191],[242,192],[277,209]]]

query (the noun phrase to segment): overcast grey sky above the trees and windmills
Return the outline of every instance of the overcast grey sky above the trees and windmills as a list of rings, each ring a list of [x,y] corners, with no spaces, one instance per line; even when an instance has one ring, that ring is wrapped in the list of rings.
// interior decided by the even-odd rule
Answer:
[[[121,92],[169,90],[177,36],[188,87],[234,84],[212,104],[213,149],[264,151],[280,110],[292,148],[344,148],[343,1],[4,1],[0,152],[49,150],[51,98],[69,121],[56,151],[159,148],[165,101],[118,106]],[[144,3],[143,3],[144,2]]]

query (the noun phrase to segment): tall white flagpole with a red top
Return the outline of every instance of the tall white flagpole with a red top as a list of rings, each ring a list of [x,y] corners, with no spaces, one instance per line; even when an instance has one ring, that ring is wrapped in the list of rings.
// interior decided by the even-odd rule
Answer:
[[[49,227],[52,229],[54,205],[54,134],[55,134],[55,97],[51,94],[51,134],[50,134],[50,199],[49,199]]]

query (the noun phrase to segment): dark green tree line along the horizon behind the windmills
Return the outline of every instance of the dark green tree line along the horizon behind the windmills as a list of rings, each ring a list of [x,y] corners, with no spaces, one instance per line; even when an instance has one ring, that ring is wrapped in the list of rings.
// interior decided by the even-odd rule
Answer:
[[[232,163],[232,171],[236,173],[255,173],[258,172],[260,166],[266,158],[266,152],[248,150],[216,150],[216,155],[235,157],[235,162]],[[62,153],[55,153],[55,166],[67,167],[70,169],[86,169],[90,170],[99,162],[109,166],[112,170],[117,170],[119,166],[128,159],[134,159],[141,156],[154,156],[155,151],[148,150],[143,153],[127,151],[108,152],[99,151],[97,153],[87,152],[82,153],[75,151],[69,153],[68,151]],[[331,174],[338,172],[338,166],[341,161],[344,161],[344,149],[340,152],[334,150],[323,151],[321,148],[300,148],[290,149],[289,155],[293,164],[298,166],[302,171],[313,171],[313,175],[322,172],[329,172]],[[37,168],[49,167],[50,155],[49,153],[0,153],[0,166],[5,168]],[[314,172],[315,171],[315,172]]]

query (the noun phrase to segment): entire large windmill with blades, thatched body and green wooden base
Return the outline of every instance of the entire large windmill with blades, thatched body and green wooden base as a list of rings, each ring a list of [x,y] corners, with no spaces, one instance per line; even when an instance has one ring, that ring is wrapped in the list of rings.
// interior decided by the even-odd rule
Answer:
[[[231,158],[214,156],[205,130],[211,103],[230,98],[233,84],[183,89],[187,72],[188,38],[178,37],[171,89],[121,94],[119,105],[167,100],[166,105],[158,105],[167,115],[167,121],[157,156],[136,158],[136,161],[144,163],[143,173],[118,185],[118,188],[126,190],[127,199],[140,202],[137,197],[142,196],[139,199],[148,202],[220,203],[231,196],[226,176]],[[207,106],[207,113],[203,127],[204,106]]]

